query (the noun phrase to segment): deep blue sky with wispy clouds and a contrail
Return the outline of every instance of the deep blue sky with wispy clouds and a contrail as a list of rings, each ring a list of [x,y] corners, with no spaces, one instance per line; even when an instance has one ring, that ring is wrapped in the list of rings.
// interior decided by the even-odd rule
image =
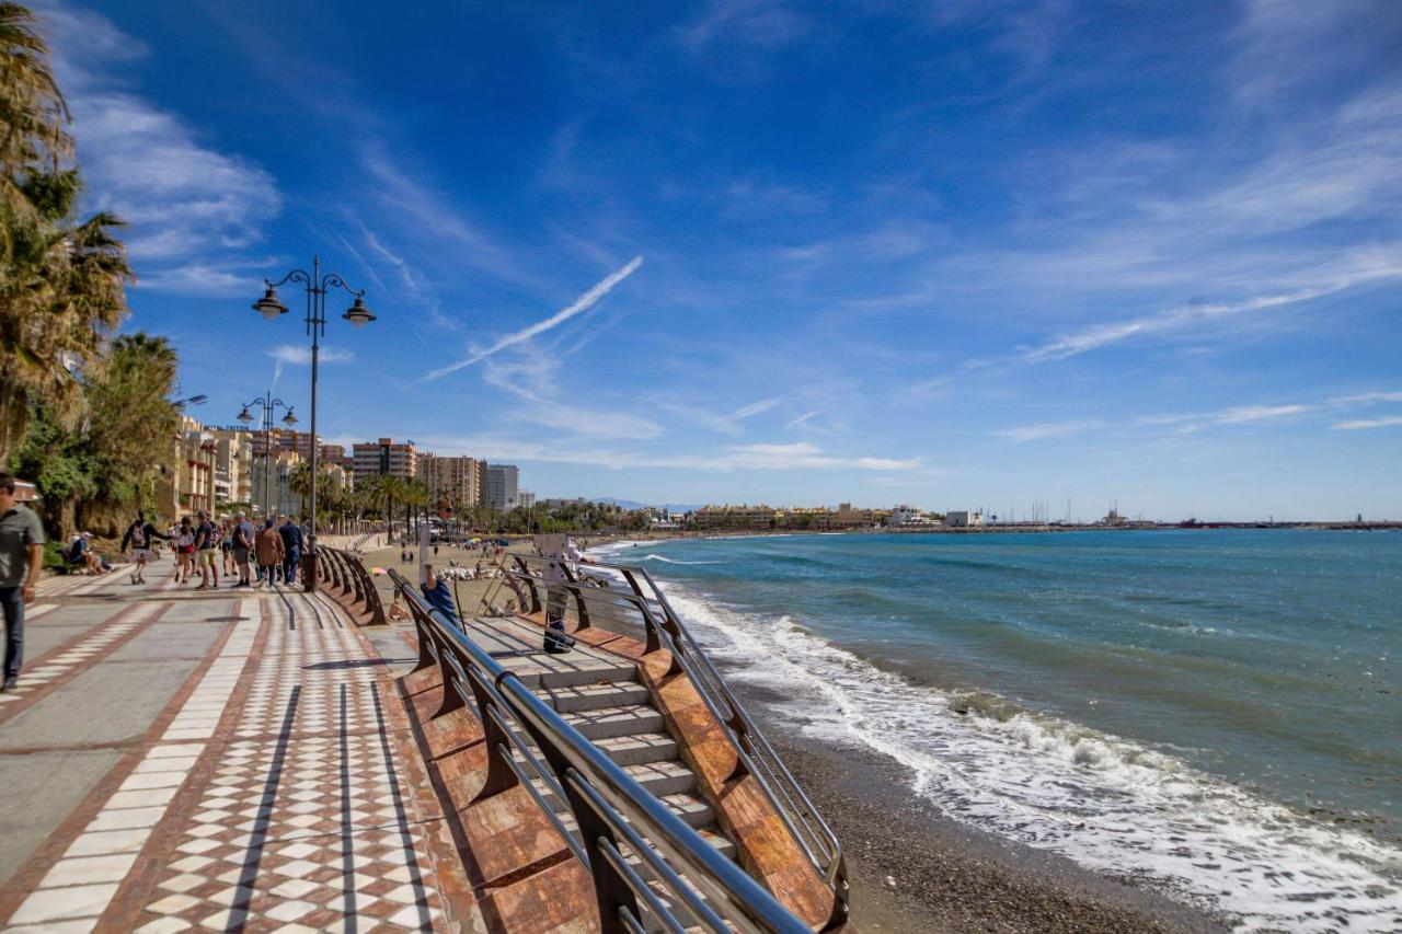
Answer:
[[[42,0],[192,414],[541,496],[1402,517],[1395,0]]]

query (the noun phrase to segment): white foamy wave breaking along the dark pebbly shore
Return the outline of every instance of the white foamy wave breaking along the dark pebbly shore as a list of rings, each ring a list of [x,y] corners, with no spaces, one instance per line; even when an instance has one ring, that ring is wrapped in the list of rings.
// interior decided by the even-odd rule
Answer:
[[[794,698],[777,707],[794,728],[900,762],[914,792],[951,818],[1091,868],[1147,874],[1242,930],[1396,930],[1402,850],[1127,739],[993,694],[911,684],[791,616],[663,589],[732,679]]]

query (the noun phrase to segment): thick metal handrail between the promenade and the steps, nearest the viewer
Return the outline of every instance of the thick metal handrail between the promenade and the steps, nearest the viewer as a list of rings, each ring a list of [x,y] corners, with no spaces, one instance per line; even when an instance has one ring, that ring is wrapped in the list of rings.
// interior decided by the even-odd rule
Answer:
[[[443,673],[444,700],[439,714],[471,703],[482,722],[491,757],[481,795],[505,791],[515,784],[527,788],[593,877],[603,931],[644,930],[639,900],[646,913],[667,930],[686,930],[676,912],[663,905],[656,891],[628,865],[620,840],[648,865],[653,881],[666,889],[673,902],[686,905],[694,921],[705,930],[787,934],[809,930],[768,889],[707,843],[694,827],[537,697],[520,677],[464,634],[454,620],[429,606],[401,574],[391,569],[390,578],[404,595],[418,625],[421,652],[415,670],[436,663]],[[526,743],[527,736],[540,750],[548,771]],[[583,839],[582,847],[515,762],[512,746],[568,804]],[[686,872],[684,879],[679,869]],[[709,903],[702,900],[702,895]]]

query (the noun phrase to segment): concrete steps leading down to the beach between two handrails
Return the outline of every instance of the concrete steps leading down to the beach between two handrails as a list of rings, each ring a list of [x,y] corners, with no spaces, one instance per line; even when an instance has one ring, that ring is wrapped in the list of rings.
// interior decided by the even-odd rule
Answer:
[[[695,773],[681,760],[677,740],[667,735],[665,719],[652,705],[646,686],[639,683],[635,665],[583,644],[558,655],[547,654],[541,648],[540,627],[522,620],[488,617],[465,620],[464,627],[468,638],[564,714],[638,784],[695,827],[718,851],[735,858],[735,843],[716,826],[715,808],[700,797]],[[538,752],[531,749],[533,754]],[[516,753],[516,759],[524,763],[523,754]],[[566,804],[544,780],[537,778],[533,784],[578,840],[575,818]],[[644,878],[651,878],[637,854],[624,850],[624,855]]]

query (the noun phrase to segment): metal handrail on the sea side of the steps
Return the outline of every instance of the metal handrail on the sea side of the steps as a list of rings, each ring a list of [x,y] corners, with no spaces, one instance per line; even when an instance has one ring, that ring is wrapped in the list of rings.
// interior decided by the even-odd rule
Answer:
[[[569,593],[576,604],[580,627],[592,625],[594,620],[615,620],[617,617],[607,610],[610,606],[627,604],[637,610],[646,634],[648,651],[666,648],[672,654],[673,665],[687,673],[711,715],[723,726],[739,762],[758,781],[815,871],[833,892],[838,912],[845,913],[847,868],[837,836],[693,638],[686,623],[672,609],[652,575],[639,567],[593,560],[575,562],[526,554],[512,554],[509,558],[510,561],[503,561],[501,565],[502,578],[498,585],[482,597],[485,607],[492,607],[492,596],[501,582],[520,581],[530,589],[531,596],[531,606],[522,607],[523,613],[544,606],[540,589],[547,592],[564,589]],[[590,578],[597,571],[607,571],[621,578],[628,585],[629,593],[592,585]],[[551,581],[547,574],[557,579]],[[513,586],[513,590],[520,595],[519,588]],[[600,611],[600,603],[604,604],[604,611]],[[628,621],[637,624],[635,620]]]

